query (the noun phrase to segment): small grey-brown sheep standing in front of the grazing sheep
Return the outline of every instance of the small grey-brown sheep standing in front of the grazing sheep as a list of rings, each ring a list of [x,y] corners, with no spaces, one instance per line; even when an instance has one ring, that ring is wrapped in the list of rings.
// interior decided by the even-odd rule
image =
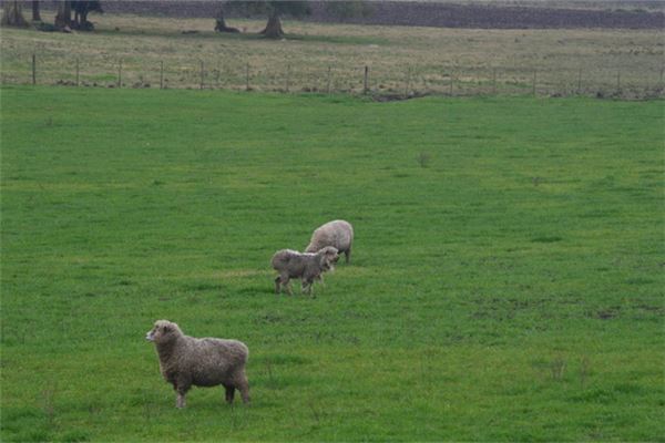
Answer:
[[[334,270],[338,259],[337,248],[332,246],[327,246],[316,254],[303,254],[293,249],[278,250],[270,261],[273,269],[279,272],[275,278],[275,293],[279,293],[282,288],[286,287],[293,296],[289,279],[299,278],[303,280],[303,292],[311,295],[314,280],[320,279],[323,272]]]

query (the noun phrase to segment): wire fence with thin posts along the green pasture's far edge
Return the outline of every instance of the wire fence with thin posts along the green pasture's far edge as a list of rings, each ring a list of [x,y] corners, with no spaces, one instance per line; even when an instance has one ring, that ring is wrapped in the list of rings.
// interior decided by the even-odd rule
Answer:
[[[378,99],[422,95],[545,95],[617,99],[664,96],[663,69],[536,69],[508,66],[341,64],[307,65],[288,60],[265,62],[241,58],[124,61],[110,56],[66,59],[31,54],[4,63],[2,84],[47,84],[134,89],[201,89],[262,92],[368,94]]]

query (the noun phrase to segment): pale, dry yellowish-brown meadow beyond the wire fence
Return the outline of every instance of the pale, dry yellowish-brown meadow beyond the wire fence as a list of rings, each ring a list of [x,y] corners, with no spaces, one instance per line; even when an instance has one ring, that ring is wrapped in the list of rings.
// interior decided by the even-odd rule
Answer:
[[[42,13],[52,23],[52,13]],[[479,30],[321,24],[286,20],[287,37],[257,35],[265,20],[91,14],[93,33],[0,30],[0,80],[103,87],[245,90],[377,95],[663,95],[659,30]],[[163,63],[163,72],[161,66]],[[121,66],[122,65],[122,66]],[[452,83],[452,84],[451,84]],[[451,87],[452,86],[452,87]]]

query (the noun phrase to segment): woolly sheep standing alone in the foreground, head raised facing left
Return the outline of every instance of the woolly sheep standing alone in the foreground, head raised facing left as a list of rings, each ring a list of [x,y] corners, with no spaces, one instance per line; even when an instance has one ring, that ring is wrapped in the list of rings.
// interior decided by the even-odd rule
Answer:
[[[195,387],[226,389],[226,401],[233,402],[235,390],[241,391],[243,402],[249,402],[249,384],[245,363],[249,351],[237,340],[196,339],[181,331],[176,323],[157,320],[145,336],[153,341],[160,357],[160,372],[177,392],[176,408],[185,406],[185,394]]]

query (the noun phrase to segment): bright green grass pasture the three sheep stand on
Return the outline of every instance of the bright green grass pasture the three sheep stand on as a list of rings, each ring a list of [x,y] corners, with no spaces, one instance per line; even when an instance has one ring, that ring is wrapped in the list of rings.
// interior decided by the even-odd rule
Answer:
[[[665,440],[663,101],[0,99],[2,441]],[[352,262],[275,296],[334,218]],[[176,410],[161,318],[252,405]]]

